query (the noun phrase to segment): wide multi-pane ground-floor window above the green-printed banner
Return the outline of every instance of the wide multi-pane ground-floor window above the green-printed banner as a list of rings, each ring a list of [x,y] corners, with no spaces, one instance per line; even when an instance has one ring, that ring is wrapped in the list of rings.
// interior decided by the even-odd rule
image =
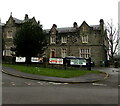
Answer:
[[[86,59],[88,59],[89,57],[91,57],[91,49],[90,48],[79,49],[79,53],[80,53],[80,58],[86,58]]]

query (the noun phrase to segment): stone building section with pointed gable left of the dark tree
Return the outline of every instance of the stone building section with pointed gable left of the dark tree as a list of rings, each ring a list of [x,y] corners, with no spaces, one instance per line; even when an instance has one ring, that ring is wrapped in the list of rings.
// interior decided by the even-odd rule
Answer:
[[[3,26],[3,39],[5,42],[5,47],[3,51],[3,55],[5,58],[11,57],[12,51],[11,47],[14,47],[13,44],[13,37],[15,36],[16,31],[20,28],[21,25],[23,25],[24,22],[31,21],[33,24],[38,24],[35,17],[29,18],[27,14],[25,14],[24,20],[19,20],[17,18],[14,18],[12,16],[12,13],[6,22],[6,24]]]

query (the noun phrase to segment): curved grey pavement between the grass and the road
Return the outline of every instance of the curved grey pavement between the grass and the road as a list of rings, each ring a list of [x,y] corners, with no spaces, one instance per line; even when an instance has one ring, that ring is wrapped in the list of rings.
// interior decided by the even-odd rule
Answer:
[[[98,70],[100,69],[98,68]],[[40,80],[40,81],[49,81],[49,82],[59,82],[59,83],[93,83],[93,82],[97,82],[100,80],[105,80],[106,78],[109,77],[109,74],[106,73],[105,71],[101,71],[100,74],[92,73],[92,74],[86,74],[80,77],[73,77],[73,78],[48,77],[48,76],[41,76],[41,75],[34,75],[34,74],[20,72],[18,70],[15,70],[9,67],[4,67],[4,66],[2,67],[2,72],[8,75],[12,75],[15,77],[20,77],[20,78]]]

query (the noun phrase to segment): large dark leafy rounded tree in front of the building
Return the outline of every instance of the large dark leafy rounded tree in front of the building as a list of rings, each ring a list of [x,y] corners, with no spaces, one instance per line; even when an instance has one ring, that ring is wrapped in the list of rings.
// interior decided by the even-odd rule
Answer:
[[[31,57],[41,55],[47,44],[46,34],[43,33],[41,25],[30,21],[25,22],[16,32],[13,42],[16,56],[26,57],[27,63]]]

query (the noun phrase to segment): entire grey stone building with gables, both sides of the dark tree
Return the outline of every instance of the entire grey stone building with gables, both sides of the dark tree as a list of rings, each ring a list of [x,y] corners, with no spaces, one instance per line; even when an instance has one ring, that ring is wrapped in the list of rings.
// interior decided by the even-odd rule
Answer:
[[[13,37],[20,26],[28,20],[37,24],[35,18],[29,19],[27,14],[24,20],[16,19],[11,14],[3,26],[5,57],[12,56],[10,49],[14,46]],[[51,29],[44,29],[44,31],[48,36],[48,47],[43,55],[47,58],[62,58],[66,56],[91,57],[95,65],[100,65],[100,61],[107,60],[106,47],[108,46],[105,40],[106,31],[103,19],[100,19],[99,25],[88,25],[84,21],[80,26],[74,22],[73,27],[57,28],[57,25],[53,24]]]

